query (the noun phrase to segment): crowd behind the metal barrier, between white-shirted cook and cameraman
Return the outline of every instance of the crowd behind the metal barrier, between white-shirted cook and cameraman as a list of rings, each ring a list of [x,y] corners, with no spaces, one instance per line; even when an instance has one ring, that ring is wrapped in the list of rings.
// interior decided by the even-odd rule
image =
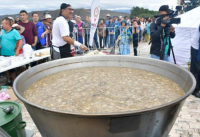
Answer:
[[[130,43],[133,43],[134,55],[137,56],[138,43],[141,41],[150,41],[150,25],[153,22],[151,18],[139,18],[128,16],[113,16],[107,14],[105,19],[99,19],[98,27],[94,35],[94,45],[89,45],[90,39],[90,17],[86,16],[82,20],[80,16],[75,15],[71,20],[73,29],[71,34],[73,38],[88,48],[108,49],[119,47],[120,55],[130,54]],[[83,42],[84,39],[84,42]],[[119,41],[119,43],[117,43]]]

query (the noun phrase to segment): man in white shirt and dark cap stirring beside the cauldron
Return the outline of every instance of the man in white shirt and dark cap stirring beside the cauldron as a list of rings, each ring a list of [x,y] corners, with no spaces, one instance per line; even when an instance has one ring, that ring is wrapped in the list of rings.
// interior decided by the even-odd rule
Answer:
[[[56,18],[53,24],[53,39],[51,47],[52,60],[71,57],[71,45],[79,47],[81,50],[87,50],[85,45],[74,41],[70,37],[68,20],[72,18],[73,9],[71,5],[63,3],[60,7],[60,16]]]

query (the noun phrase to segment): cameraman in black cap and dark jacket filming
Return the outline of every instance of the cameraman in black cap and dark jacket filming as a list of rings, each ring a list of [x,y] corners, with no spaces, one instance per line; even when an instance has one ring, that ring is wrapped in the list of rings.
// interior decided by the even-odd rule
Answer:
[[[150,26],[151,34],[151,58],[170,61],[170,48],[172,48],[170,38],[175,37],[175,29],[166,22],[170,19],[170,9],[168,5],[163,5],[159,9],[159,17]]]

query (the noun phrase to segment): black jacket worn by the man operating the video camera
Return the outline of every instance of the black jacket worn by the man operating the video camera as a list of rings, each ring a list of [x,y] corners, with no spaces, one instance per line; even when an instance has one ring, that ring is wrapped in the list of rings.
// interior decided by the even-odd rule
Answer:
[[[158,26],[155,23],[152,23],[150,26],[150,34],[151,34],[151,42],[152,42],[150,54],[154,54],[159,57],[161,57],[161,55],[162,55],[161,45],[163,45],[163,44],[162,44],[161,40],[162,40],[162,35],[163,35],[163,29],[164,28],[162,26]],[[175,35],[176,35],[175,32],[170,33],[171,38],[174,38]],[[169,46],[170,46],[170,48],[168,51],[168,55],[170,55],[170,49],[172,47],[171,40],[170,40]]]

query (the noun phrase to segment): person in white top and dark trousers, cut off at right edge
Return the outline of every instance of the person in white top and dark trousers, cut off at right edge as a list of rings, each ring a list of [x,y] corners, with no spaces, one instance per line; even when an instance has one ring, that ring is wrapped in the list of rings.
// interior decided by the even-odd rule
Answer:
[[[196,33],[192,40],[191,47],[191,66],[190,71],[194,75],[197,85],[193,92],[193,95],[200,98],[200,26],[196,29]]]

